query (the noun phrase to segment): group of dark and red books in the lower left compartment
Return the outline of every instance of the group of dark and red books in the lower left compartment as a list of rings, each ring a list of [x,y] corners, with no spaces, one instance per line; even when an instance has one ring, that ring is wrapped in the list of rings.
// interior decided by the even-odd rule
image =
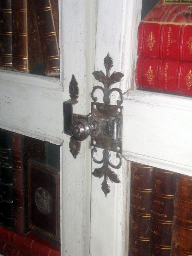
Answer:
[[[59,248],[59,146],[0,129],[0,156],[0,242],[27,253],[23,243],[38,247],[29,239],[34,230]],[[50,248],[28,255],[58,255],[59,250],[46,254]]]

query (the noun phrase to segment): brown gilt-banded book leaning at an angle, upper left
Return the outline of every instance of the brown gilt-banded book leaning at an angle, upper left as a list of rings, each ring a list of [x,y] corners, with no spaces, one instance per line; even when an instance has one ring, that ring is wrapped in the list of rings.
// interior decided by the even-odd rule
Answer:
[[[41,39],[45,74],[59,76],[58,0],[34,0]]]

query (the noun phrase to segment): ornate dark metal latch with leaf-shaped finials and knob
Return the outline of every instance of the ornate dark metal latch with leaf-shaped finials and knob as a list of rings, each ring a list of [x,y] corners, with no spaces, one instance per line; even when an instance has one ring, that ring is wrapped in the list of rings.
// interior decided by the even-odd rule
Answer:
[[[113,59],[109,53],[104,58],[104,66],[106,69],[106,76],[102,71],[94,71],[92,74],[96,80],[102,82],[102,86],[94,86],[91,92],[93,102],[91,102],[91,113],[88,115],[78,115],[73,113],[73,105],[78,103],[78,86],[77,81],[72,75],[72,79],[69,85],[69,92],[71,99],[63,103],[64,111],[64,132],[71,135],[70,138],[70,152],[73,157],[76,158],[79,151],[81,140],[91,136],[91,156],[93,161],[98,164],[102,164],[101,168],[96,168],[92,173],[95,177],[101,178],[104,176],[102,182],[102,190],[105,196],[110,192],[110,185],[108,178],[111,182],[119,183],[118,175],[111,170],[110,167],[119,169],[121,166],[122,153],[122,119],[123,119],[123,95],[119,88],[112,88],[114,83],[117,83],[124,76],[120,72],[114,72],[110,76],[110,70],[113,67]],[[94,96],[94,92],[97,89],[103,91],[103,102],[97,102],[97,97]],[[120,100],[117,101],[117,105],[111,105],[111,93],[113,91],[119,92]],[[94,152],[97,152],[97,148],[103,149],[103,159],[98,161],[94,157]],[[110,151],[116,152],[116,157],[119,158],[119,164],[113,165],[110,161]]]

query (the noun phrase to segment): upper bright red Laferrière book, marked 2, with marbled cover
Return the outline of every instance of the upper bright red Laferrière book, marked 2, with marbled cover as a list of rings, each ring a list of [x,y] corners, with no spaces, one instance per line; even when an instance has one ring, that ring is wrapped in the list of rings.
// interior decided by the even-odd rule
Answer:
[[[192,61],[191,7],[161,0],[140,22],[138,56]]]

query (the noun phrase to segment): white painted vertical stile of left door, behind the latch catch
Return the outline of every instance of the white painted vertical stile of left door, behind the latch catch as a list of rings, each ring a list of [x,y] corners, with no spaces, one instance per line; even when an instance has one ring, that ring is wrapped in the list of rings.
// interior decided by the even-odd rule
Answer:
[[[60,3],[61,82],[64,101],[69,100],[69,83],[74,74],[79,87],[73,112],[90,112],[93,86],[96,1],[65,0]],[[90,139],[89,139],[90,140]],[[91,156],[89,140],[81,143],[76,159],[69,151],[70,136],[64,134],[61,148],[61,255],[89,255]]]

